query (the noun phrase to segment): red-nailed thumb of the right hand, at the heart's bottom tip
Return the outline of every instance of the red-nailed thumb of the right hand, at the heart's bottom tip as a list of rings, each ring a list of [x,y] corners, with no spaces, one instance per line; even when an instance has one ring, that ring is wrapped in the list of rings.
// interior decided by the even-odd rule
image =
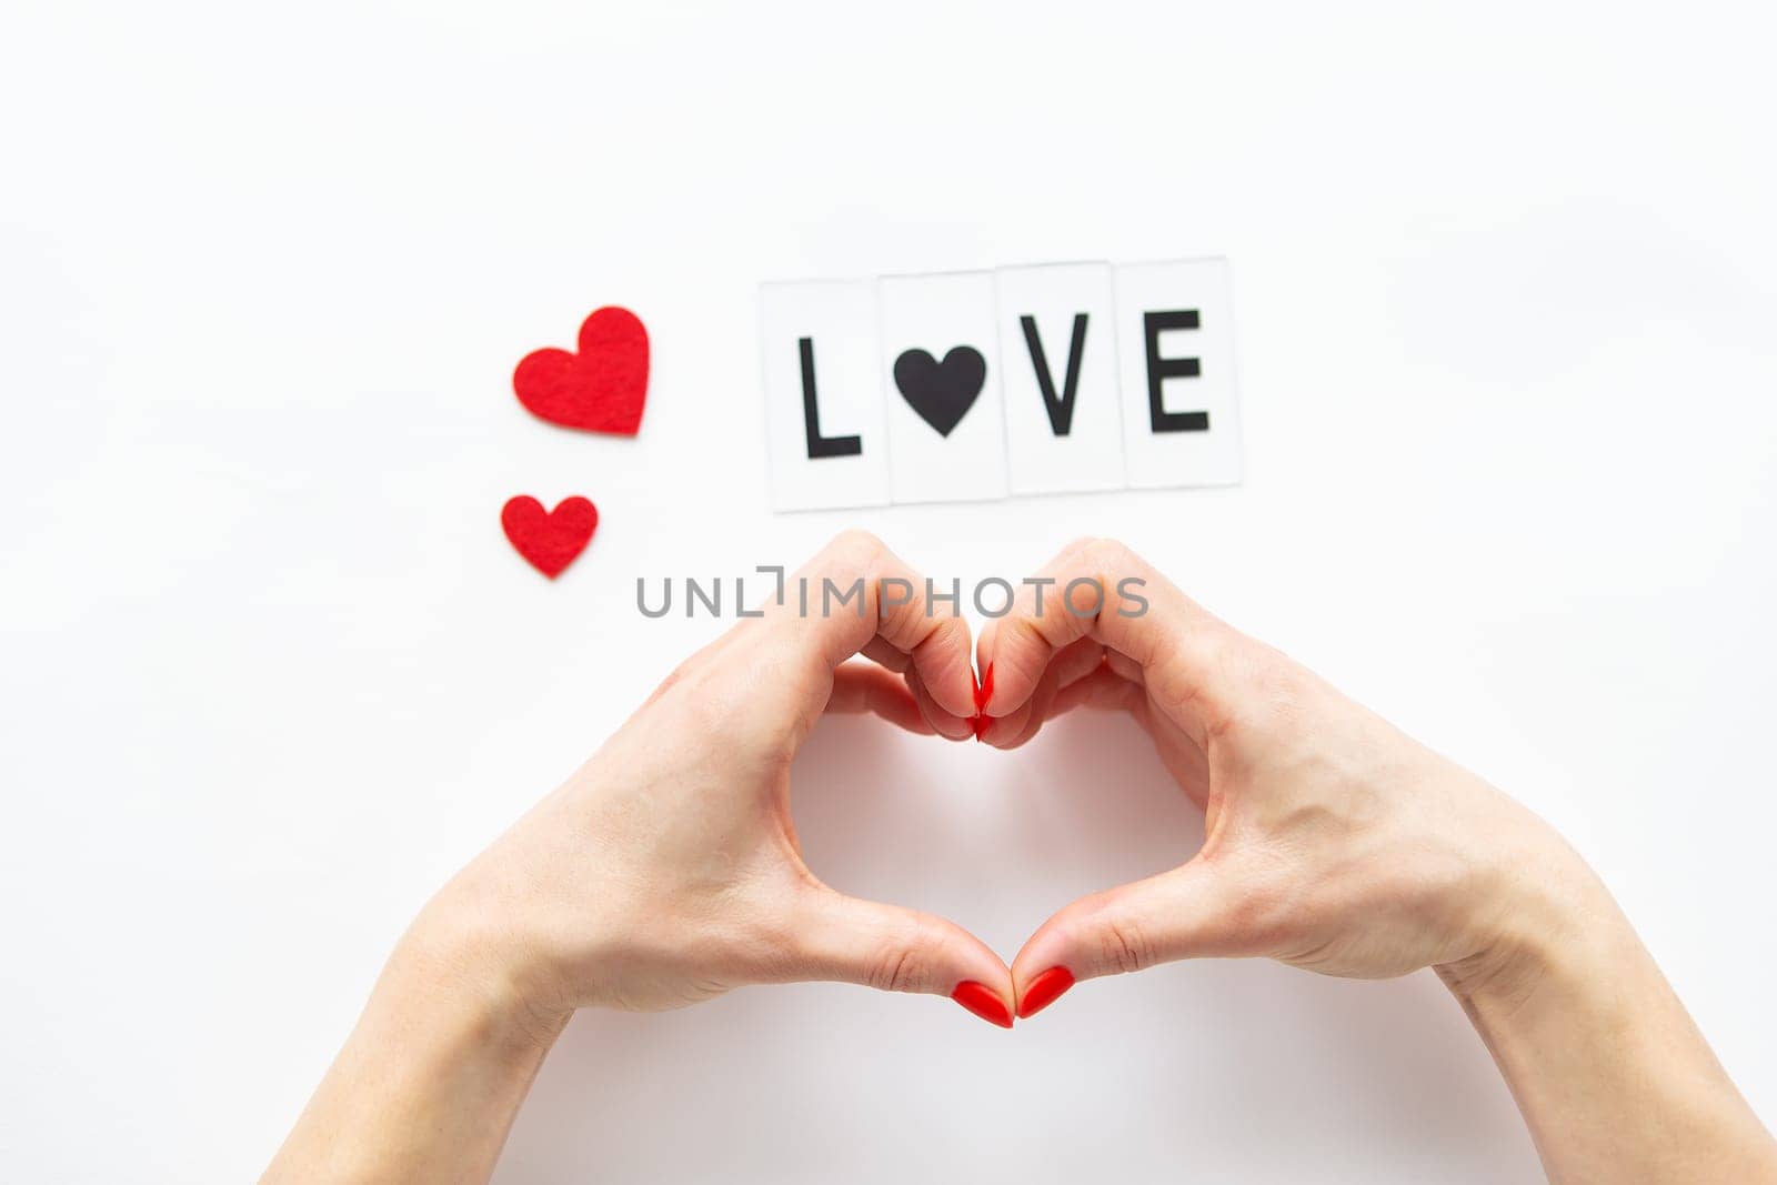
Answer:
[[[1043,922],[1011,963],[1018,1016],[1032,1016],[1079,979],[1157,963],[1246,954],[1242,895],[1201,856],[1068,904]]]

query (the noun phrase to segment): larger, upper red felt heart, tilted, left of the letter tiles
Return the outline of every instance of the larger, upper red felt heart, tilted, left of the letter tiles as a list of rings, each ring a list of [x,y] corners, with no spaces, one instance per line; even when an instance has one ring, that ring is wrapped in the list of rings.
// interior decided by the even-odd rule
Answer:
[[[649,394],[649,330],[629,309],[597,309],[579,327],[579,354],[524,355],[512,391],[553,425],[636,435]]]

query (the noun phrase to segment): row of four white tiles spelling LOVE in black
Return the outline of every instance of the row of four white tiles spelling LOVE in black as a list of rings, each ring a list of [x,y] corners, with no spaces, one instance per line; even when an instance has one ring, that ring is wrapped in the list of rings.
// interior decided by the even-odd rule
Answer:
[[[1224,259],[761,288],[777,510],[1233,485]]]

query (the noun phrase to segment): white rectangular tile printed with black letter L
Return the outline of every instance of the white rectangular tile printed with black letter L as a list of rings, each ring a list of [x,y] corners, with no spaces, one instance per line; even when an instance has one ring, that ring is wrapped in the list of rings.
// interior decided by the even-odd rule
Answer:
[[[876,281],[761,284],[759,339],[771,506],[887,506],[888,428],[876,345]],[[814,361],[821,437],[855,437],[858,449],[851,455],[809,455],[803,339]]]

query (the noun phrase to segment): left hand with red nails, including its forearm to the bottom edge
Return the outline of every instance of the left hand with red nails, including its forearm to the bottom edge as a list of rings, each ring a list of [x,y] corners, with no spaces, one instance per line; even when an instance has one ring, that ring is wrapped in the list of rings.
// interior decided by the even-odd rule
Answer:
[[[839,979],[949,995],[1011,1027],[999,956],[951,922],[823,885],[789,815],[791,759],[821,712],[972,736],[968,629],[933,616],[924,579],[865,535],[798,579],[809,615],[791,593],[684,663],[432,899],[267,1181],[485,1181],[588,1004]],[[828,581],[858,597],[823,615]],[[849,664],[860,652],[876,664]]]

